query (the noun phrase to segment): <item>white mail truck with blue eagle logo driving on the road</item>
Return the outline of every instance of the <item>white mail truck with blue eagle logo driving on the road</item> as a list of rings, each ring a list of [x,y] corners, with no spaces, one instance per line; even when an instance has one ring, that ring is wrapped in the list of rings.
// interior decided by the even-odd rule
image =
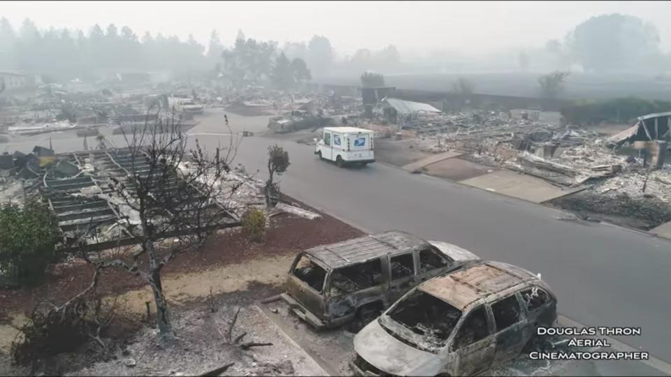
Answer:
[[[315,154],[335,161],[338,166],[375,162],[373,131],[355,127],[324,127],[324,137],[317,142]]]

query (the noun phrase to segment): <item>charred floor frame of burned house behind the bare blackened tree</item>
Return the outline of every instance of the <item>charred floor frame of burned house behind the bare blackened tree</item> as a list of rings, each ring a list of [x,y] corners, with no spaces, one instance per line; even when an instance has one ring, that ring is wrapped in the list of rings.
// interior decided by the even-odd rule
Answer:
[[[27,198],[41,198],[57,216],[66,248],[84,233],[92,250],[132,243],[129,227],[140,225],[138,213],[117,198],[110,182],[123,179],[129,171],[148,174],[150,166],[143,156],[133,156],[128,149],[53,154],[50,149],[36,147],[36,151],[52,156],[29,154],[22,159],[25,165],[18,177],[24,179]],[[181,190],[192,198],[198,197],[198,189],[183,182],[179,175],[171,182],[167,191]],[[129,186],[128,190],[132,192],[134,188]],[[216,202],[213,205],[221,206]],[[221,219],[221,224],[236,226],[238,219],[237,214],[230,213]]]

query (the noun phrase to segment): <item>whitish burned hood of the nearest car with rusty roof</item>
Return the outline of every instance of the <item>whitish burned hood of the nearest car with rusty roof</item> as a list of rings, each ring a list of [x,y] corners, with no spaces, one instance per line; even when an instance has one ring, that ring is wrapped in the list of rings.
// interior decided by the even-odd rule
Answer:
[[[398,376],[433,376],[440,369],[440,357],[407,346],[392,337],[374,320],[354,337],[354,350],[377,369]]]

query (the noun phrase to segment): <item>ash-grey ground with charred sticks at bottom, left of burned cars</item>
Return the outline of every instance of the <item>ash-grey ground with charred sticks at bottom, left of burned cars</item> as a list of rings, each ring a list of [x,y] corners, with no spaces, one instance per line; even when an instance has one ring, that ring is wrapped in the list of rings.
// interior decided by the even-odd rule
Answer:
[[[217,297],[216,313],[203,311],[204,303],[173,307],[173,328],[178,338],[159,344],[156,331],[145,328],[126,341],[116,360],[96,362],[72,376],[323,376],[324,371],[253,303],[254,292]],[[229,344],[222,333],[236,317],[233,338],[245,334],[247,342]],[[223,330],[222,330],[223,329]],[[225,335],[225,334],[224,334]],[[272,344],[268,342],[272,339]],[[259,346],[263,344],[264,346]],[[252,348],[253,346],[253,348]],[[123,357],[123,353],[128,356]]]

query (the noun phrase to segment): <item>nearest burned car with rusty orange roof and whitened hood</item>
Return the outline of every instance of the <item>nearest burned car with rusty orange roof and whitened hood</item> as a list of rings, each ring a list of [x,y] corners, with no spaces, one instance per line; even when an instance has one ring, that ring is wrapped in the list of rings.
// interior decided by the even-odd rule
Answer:
[[[426,281],[354,337],[360,376],[463,376],[517,357],[556,297],[531,272],[480,262]]]

